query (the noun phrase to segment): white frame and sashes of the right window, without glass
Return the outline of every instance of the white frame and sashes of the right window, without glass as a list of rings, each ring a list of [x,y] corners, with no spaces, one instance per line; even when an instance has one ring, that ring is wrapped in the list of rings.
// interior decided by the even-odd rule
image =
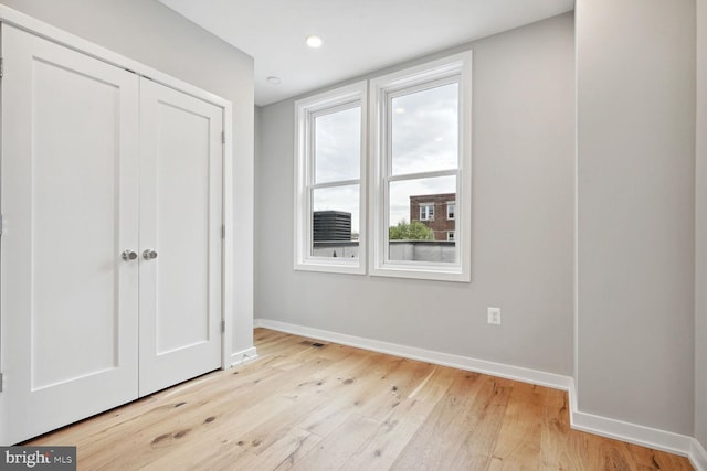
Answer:
[[[425,89],[431,84],[458,77],[458,165],[455,172],[425,172],[423,176],[456,176],[455,246],[457,259],[454,264],[410,263],[389,260],[388,227],[390,226],[388,202],[391,175],[389,99],[395,93]],[[472,52],[467,51],[446,58],[394,72],[370,82],[370,184],[372,212],[372,250],[369,254],[370,274],[373,276],[418,278],[444,281],[471,281],[471,193],[472,193]],[[405,178],[410,178],[407,175]]]

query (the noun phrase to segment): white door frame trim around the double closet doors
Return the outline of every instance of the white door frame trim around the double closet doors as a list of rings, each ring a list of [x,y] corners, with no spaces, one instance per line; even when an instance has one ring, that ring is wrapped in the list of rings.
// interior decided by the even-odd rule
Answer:
[[[173,88],[181,93],[191,95],[196,98],[200,98],[204,101],[211,103],[221,108],[223,114],[223,210],[222,210],[222,224],[224,227],[224,237],[222,238],[222,312],[221,320],[224,323],[224,329],[221,336],[221,368],[229,368],[232,366],[231,352],[233,347],[233,315],[234,315],[234,296],[233,290],[228,289],[233,287],[234,281],[234,186],[233,186],[233,105],[231,101],[214,95],[210,92],[196,87],[187,82],[182,82],[179,78],[175,78],[162,72],[159,72],[150,66],[147,66],[137,61],[125,57],[118,53],[109,51],[103,46],[94,44],[82,38],[78,38],[72,33],[63,31],[59,28],[52,26],[43,21],[36,20],[30,15],[21,13],[14,9],[0,4],[0,23],[10,24],[18,29],[24,30],[29,33],[39,35],[46,40],[50,40],[56,44],[63,45],[76,52],[86,54],[102,62],[110,64],[113,66],[124,68],[135,73],[140,77],[149,78],[167,87]],[[1,28],[1,25],[0,25]],[[2,156],[0,156],[0,159]],[[1,237],[1,236],[0,236]],[[2,338],[8,335],[7,330],[2,329],[3,317],[0,312],[0,373],[2,372],[2,365],[7,357]],[[4,404],[2,387],[11,387],[11,385],[0,384],[0,416],[2,416],[2,408],[9,407]],[[3,437],[0,433],[0,443],[3,442]]]

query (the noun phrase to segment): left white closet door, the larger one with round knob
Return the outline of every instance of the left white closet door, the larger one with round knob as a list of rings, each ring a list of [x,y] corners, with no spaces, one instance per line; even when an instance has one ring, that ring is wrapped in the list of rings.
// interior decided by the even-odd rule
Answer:
[[[0,440],[135,399],[138,78],[2,25]]]

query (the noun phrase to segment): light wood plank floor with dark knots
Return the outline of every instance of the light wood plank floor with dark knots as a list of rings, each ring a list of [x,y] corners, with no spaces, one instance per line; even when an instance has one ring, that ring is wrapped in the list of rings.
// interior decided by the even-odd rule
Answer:
[[[571,430],[567,393],[255,330],[260,360],[25,445],[81,470],[692,470]]]

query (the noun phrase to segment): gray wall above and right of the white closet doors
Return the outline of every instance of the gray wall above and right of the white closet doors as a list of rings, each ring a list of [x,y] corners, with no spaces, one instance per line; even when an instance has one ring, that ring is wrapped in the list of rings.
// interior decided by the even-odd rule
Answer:
[[[156,0],[0,0],[233,104],[234,351],[252,346],[253,60]]]

